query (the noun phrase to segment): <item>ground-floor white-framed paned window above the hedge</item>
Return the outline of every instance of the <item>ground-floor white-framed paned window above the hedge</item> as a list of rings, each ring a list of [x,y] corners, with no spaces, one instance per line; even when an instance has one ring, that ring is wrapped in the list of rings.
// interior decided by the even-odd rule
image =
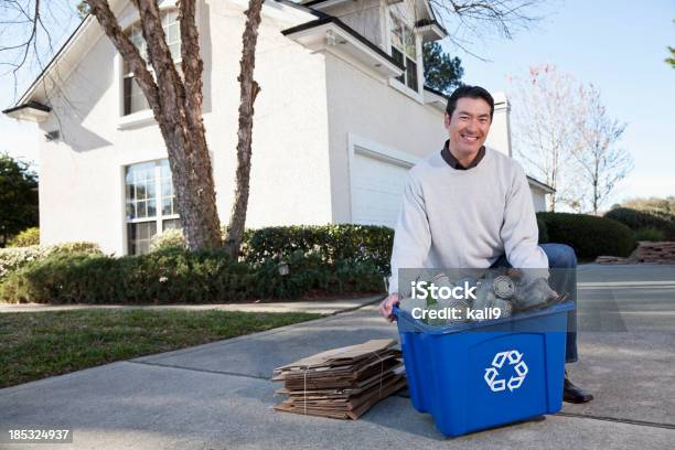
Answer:
[[[148,253],[156,234],[181,228],[169,160],[127,167],[125,191],[129,255]]]

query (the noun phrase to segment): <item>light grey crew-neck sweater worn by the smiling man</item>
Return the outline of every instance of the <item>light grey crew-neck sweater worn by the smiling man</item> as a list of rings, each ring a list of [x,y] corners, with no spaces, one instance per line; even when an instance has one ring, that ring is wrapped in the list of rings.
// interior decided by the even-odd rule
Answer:
[[[547,269],[527,178],[512,158],[485,149],[473,169],[440,152],[408,173],[394,235],[389,293],[401,268],[488,268],[501,255],[517,268]]]

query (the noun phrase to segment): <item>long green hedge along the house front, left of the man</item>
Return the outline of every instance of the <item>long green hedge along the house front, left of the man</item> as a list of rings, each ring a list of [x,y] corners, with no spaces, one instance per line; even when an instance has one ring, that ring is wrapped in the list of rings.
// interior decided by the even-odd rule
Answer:
[[[210,303],[382,292],[393,238],[390,228],[363,225],[247,231],[240,261],[223,249],[190,251],[179,231],[158,236],[142,256],[114,258],[87,244],[14,249],[30,257],[8,268],[0,301]]]

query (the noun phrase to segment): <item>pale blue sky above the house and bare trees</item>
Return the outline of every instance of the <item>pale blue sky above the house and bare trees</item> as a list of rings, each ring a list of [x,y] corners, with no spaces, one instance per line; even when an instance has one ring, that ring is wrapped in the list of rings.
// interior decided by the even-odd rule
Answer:
[[[464,82],[504,92],[507,75],[551,63],[596,84],[610,114],[629,124],[621,144],[635,164],[606,206],[633,196],[675,195],[675,69],[663,62],[666,45],[675,46],[675,1],[554,0],[544,12],[542,22],[511,41],[493,38],[470,46],[489,62],[452,51],[462,58]],[[9,107],[11,79],[0,77],[0,106]],[[0,151],[38,162],[41,137],[34,125],[2,115],[0,136]]]

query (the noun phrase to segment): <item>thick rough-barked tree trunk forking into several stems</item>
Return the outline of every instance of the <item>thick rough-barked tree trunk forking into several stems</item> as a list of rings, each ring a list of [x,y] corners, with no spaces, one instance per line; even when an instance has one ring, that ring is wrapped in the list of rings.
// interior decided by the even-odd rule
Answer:
[[[202,120],[202,72],[195,0],[179,2],[183,78],[162,30],[157,0],[132,0],[139,11],[149,62],[120,29],[106,0],[87,0],[92,14],[129,64],[167,144],[183,234],[190,249],[222,246],[213,171]]]

